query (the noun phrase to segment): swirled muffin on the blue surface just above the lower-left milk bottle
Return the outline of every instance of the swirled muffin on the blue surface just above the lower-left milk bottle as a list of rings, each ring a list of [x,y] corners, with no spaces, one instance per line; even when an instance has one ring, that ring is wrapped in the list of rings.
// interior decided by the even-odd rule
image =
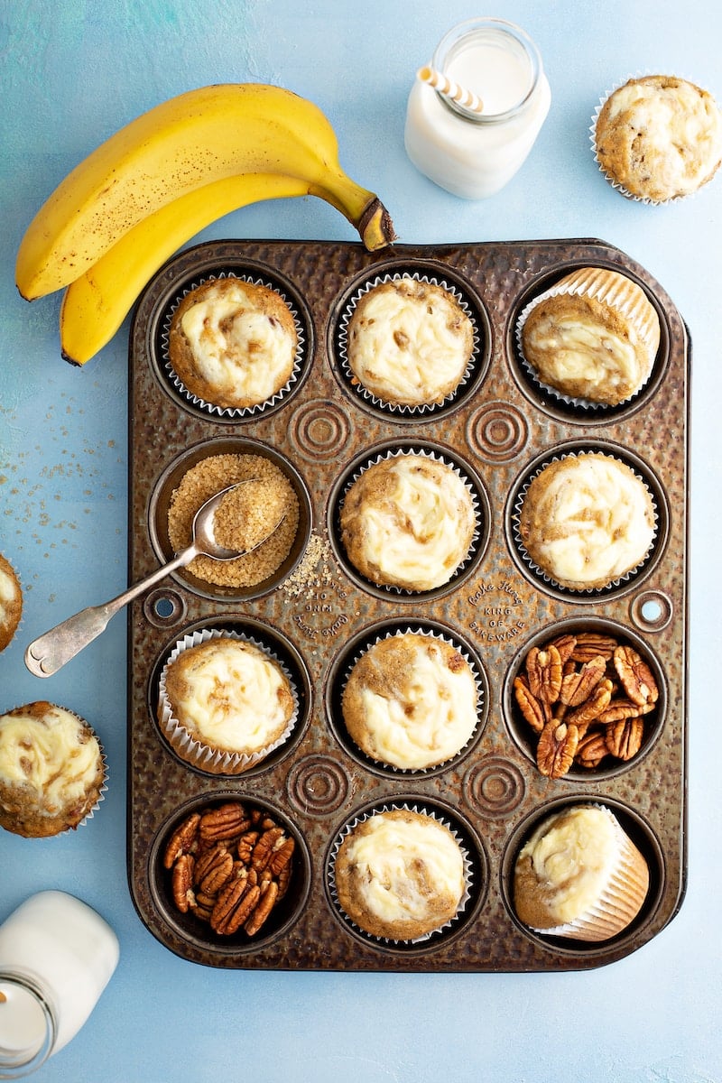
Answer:
[[[101,800],[105,762],[83,719],[45,701],[0,716],[0,825],[25,838],[77,827]]]

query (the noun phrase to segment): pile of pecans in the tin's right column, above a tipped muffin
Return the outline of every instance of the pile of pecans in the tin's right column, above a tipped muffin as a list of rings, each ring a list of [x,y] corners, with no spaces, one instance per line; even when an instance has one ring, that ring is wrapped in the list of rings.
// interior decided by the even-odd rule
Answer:
[[[538,735],[537,767],[561,779],[607,756],[632,759],[659,689],[641,654],[595,631],[559,636],[526,655],[514,680],[518,708]]]

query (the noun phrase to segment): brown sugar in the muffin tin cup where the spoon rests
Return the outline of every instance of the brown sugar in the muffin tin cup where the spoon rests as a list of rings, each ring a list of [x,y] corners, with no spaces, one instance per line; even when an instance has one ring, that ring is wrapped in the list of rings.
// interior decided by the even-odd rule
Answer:
[[[168,509],[168,537],[175,552],[180,552],[191,544],[193,518],[200,506],[215,493],[239,481],[254,481],[253,485],[244,485],[236,491],[237,493],[242,493],[247,488],[253,491],[253,500],[246,500],[247,506],[251,503],[253,505],[253,522],[248,527],[249,532],[255,533],[257,539],[266,534],[270,536],[252,552],[234,560],[218,561],[211,557],[195,557],[188,564],[188,571],[199,579],[216,586],[251,587],[273,575],[290,552],[299,525],[298,497],[288,478],[275,462],[262,455],[212,455],[192,467],[171,495]],[[221,501],[219,513],[224,504],[225,500]],[[283,522],[277,530],[273,530],[280,518],[280,508],[284,513]],[[233,534],[229,523],[234,513],[233,503],[229,509],[225,529],[229,530],[231,534],[223,534],[222,521],[223,536],[219,535],[219,513],[216,513],[216,540],[221,545],[226,545]],[[225,517],[222,517],[223,519]],[[261,529],[258,525],[260,522],[270,525],[267,529]],[[235,545],[227,547],[236,548]]]

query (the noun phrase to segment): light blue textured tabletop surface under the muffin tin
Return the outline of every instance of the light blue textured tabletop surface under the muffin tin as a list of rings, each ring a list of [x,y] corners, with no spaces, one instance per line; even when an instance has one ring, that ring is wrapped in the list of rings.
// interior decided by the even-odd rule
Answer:
[[[493,199],[435,187],[403,145],[417,68],[443,34],[475,14],[537,42],[552,106],[521,172]],[[88,718],[108,791],[77,834],[0,832],[0,921],[55,887],[116,929],[118,969],[77,1038],[40,1070],[44,1083],[712,1083],[719,1018],[722,890],[719,705],[719,313],[722,177],[697,196],[646,207],[598,171],[589,126],[630,75],[675,74],[722,99],[722,10],[711,0],[467,0],[363,4],[312,0],[15,0],[0,14],[0,552],[25,593],[0,654],[0,713],[49,699]],[[222,81],[276,82],[319,105],[349,173],[378,192],[407,243],[600,237],[654,275],[694,343],[690,596],[688,887],[679,915],[632,956],[588,973],[383,975],[223,973],[175,957],[139,921],[126,877],[126,627],[122,616],[47,680],[27,643],[127,584],[129,321],[84,368],[64,363],[60,295],[15,289],[21,237],[63,177],[159,101]],[[258,205],[210,226],[224,237],[353,239],[313,198]],[[672,509],[673,513],[673,509]]]

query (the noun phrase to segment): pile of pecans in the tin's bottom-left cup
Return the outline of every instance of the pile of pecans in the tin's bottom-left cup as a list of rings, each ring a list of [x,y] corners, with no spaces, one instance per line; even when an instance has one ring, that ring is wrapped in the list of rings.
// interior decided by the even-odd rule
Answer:
[[[192,812],[163,852],[173,902],[219,936],[255,936],[288,889],[293,849],[272,817],[240,801]]]

